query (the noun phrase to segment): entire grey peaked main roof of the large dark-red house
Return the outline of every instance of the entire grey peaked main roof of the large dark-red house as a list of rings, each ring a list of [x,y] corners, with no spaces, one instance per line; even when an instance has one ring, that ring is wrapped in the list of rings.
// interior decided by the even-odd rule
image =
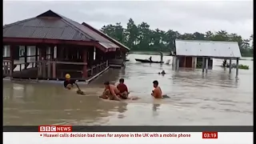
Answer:
[[[105,48],[118,48],[113,42],[61,14],[48,10],[35,18],[3,26],[3,38],[42,38],[106,43]]]

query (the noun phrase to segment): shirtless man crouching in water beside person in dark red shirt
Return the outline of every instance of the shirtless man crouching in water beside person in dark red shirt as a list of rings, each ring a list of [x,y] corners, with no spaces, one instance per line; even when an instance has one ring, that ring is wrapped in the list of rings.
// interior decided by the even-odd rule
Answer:
[[[104,82],[105,90],[99,98],[102,99],[110,99],[115,101],[121,101],[121,99],[118,97],[118,94],[120,94],[118,88],[114,85],[111,85],[110,82]]]

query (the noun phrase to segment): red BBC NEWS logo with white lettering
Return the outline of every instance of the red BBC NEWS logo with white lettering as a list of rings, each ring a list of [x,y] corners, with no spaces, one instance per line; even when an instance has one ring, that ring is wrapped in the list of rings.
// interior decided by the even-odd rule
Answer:
[[[38,132],[72,132],[72,126],[38,126]]]

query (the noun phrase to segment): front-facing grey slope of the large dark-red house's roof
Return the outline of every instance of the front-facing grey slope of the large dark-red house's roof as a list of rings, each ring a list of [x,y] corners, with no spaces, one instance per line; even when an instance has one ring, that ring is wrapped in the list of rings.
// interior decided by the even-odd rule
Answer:
[[[81,34],[61,18],[32,18],[3,27],[4,38],[47,38],[74,41],[90,41],[90,36]]]

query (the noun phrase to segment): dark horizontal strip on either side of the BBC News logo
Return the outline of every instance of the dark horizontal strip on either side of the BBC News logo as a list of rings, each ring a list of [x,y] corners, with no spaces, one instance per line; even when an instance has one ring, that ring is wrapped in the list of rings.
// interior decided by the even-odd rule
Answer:
[[[72,126],[73,132],[254,132],[254,126]],[[38,132],[38,126],[3,126],[3,132]]]

